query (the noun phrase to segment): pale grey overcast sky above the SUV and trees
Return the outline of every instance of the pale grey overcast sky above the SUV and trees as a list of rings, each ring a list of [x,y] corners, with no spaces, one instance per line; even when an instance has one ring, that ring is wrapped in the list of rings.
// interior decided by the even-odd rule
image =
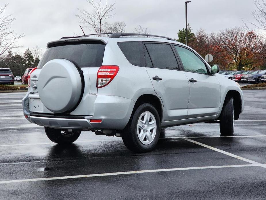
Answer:
[[[97,1],[97,0],[95,0]],[[105,1],[105,0],[102,0]],[[177,38],[179,29],[185,27],[185,0],[108,0],[114,3],[115,16],[108,22],[125,21],[127,32],[141,25],[151,34]],[[1,0],[0,6],[9,3],[6,14],[13,14],[12,25],[17,33],[25,33],[18,44],[26,48],[39,45],[43,51],[49,41],[74,33],[82,35],[79,27],[78,8],[91,10],[85,0]],[[253,0],[191,0],[187,4],[188,23],[194,32],[203,28],[207,33],[241,26],[252,21]],[[81,24],[82,25],[82,24]],[[86,34],[93,33],[84,29]],[[13,50],[14,51],[14,50]]]

